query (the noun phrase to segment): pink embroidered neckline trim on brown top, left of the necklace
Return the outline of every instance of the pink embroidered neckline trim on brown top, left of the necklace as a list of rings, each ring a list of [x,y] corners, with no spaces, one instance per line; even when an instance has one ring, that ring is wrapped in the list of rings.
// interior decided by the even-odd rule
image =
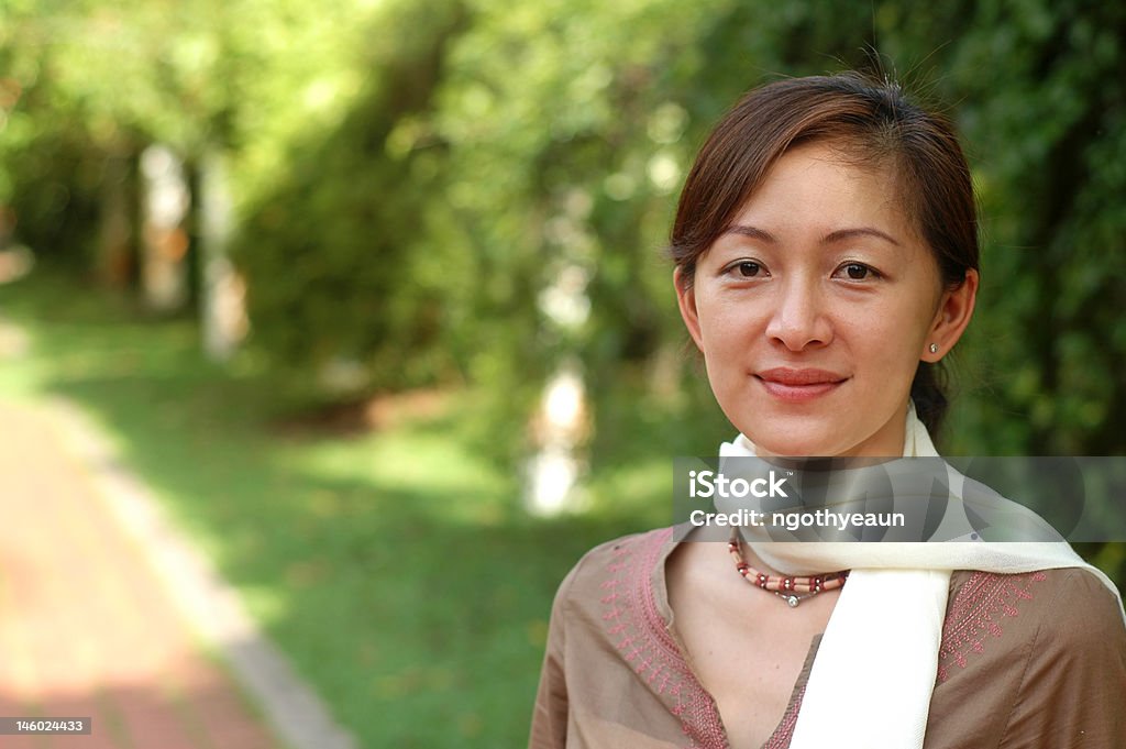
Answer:
[[[606,568],[610,577],[601,586],[613,592],[602,598],[609,608],[602,619],[623,659],[658,695],[671,698],[669,710],[680,720],[688,747],[729,749],[715,703],[692,676],[653,598],[651,576],[671,535],[672,528],[663,528],[615,547]]]

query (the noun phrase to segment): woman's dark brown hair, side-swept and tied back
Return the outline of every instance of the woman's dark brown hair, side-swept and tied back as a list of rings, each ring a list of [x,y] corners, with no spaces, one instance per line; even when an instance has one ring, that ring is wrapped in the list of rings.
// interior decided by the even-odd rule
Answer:
[[[855,72],[781,80],[752,90],[727,113],[692,164],[672,225],[681,283],[787,150],[829,142],[858,166],[888,169],[900,204],[930,248],[944,284],[977,269],[977,215],[969,167],[954,126],[912,104],[896,83]],[[920,362],[911,383],[932,433],[947,399],[939,365]]]

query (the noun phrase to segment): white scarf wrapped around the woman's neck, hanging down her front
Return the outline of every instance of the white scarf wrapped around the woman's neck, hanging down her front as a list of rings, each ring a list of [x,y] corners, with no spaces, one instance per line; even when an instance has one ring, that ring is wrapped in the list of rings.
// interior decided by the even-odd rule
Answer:
[[[721,457],[752,457],[740,435]],[[912,404],[905,457],[938,456]],[[953,469],[951,469],[953,471]],[[1006,501],[1006,500],[1001,500]],[[953,570],[1002,574],[1082,568],[1066,543],[749,542],[784,574],[851,570],[810,672],[792,749],[920,749],[927,731]],[[1123,614],[1126,621],[1126,612]],[[878,731],[876,730],[878,726]]]

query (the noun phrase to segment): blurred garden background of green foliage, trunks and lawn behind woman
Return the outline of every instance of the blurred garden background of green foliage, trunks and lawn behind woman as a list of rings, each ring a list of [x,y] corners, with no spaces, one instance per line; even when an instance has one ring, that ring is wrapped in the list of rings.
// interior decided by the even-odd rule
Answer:
[[[555,586],[731,435],[662,244],[753,86],[876,63],[956,122],[946,452],[1126,454],[1124,39],[1081,0],[6,0],[0,395],[93,414],[364,746],[521,746]]]

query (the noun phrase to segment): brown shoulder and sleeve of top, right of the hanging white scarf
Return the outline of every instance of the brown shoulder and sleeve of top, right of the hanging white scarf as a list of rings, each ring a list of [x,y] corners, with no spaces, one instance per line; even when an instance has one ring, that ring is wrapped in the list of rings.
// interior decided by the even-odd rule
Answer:
[[[931,705],[942,725],[981,726],[978,746],[1126,746],[1126,625],[1117,597],[1080,568],[957,571]]]

